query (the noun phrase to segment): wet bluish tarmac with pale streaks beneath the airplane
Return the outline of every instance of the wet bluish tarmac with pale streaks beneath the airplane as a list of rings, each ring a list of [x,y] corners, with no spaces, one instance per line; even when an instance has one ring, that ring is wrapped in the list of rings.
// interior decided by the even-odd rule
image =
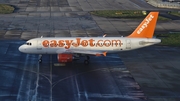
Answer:
[[[24,54],[24,41],[0,40],[1,101],[144,101],[146,97],[117,54],[68,64],[56,55]]]

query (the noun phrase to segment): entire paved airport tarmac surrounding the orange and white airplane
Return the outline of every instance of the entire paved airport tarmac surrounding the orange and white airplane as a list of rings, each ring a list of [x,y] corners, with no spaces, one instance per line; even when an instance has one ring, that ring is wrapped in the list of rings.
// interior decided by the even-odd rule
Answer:
[[[35,37],[127,36],[142,21],[93,16],[93,10],[158,10],[144,0],[1,0],[16,7],[0,15],[2,101],[179,101],[179,48],[152,46],[69,64],[56,55],[23,54]],[[162,10],[162,9],[160,9]],[[158,21],[155,33],[179,32],[180,20]]]

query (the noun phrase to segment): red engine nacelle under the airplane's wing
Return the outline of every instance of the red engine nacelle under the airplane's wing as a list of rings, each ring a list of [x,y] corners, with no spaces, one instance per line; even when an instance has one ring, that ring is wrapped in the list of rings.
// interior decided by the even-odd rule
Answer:
[[[61,63],[72,62],[73,55],[72,54],[58,54],[57,58],[58,58],[58,61]]]

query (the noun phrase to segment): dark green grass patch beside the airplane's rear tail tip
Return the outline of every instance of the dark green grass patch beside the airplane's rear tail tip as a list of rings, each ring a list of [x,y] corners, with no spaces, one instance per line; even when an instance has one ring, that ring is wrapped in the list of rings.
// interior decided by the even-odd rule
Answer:
[[[158,34],[161,39],[160,45],[180,47],[180,33]]]

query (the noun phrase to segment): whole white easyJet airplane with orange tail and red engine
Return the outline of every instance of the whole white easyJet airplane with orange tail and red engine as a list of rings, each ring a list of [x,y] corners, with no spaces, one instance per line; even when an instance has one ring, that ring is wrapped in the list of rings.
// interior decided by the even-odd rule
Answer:
[[[150,12],[135,31],[127,37],[41,37],[28,40],[19,51],[28,54],[57,54],[61,63],[72,62],[80,56],[106,56],[108,53],[134,50],[161,42],[153,38],[159,12]],[[127,26],[128,27],[128,26]]]

